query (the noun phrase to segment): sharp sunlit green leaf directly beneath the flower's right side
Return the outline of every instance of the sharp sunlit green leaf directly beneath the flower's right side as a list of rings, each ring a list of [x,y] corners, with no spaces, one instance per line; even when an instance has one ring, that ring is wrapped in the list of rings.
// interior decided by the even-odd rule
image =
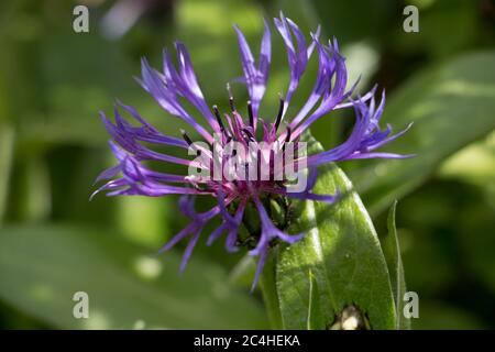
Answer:
[[[321,150],[312,138],[311,150]],[[391,282],[370,216],[341,169],[328,165],[319,172],[315,193],[340,189],[342,196],[333,205],[301,202],[301,216],[289,232],[305,231],[306,237],[279,251],[276,283],[284,328],[328,328],[344,308],[355,307],[372,329],[394,329]],[[311,306],[319,306],[323,319],[308,317]]]

